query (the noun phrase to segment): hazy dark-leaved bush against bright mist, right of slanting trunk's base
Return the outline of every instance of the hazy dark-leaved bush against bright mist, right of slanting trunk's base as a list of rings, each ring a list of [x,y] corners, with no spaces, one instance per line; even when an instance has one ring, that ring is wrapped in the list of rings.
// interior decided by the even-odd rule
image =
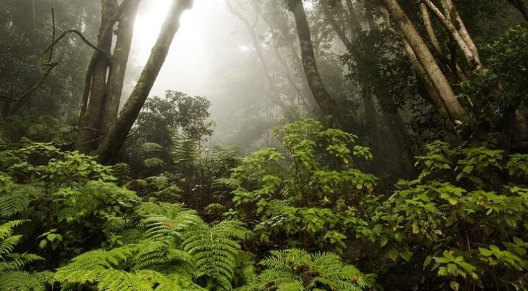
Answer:
[[[148,177],[194,169],[201,141],[213,134],[210,106],[204,97],[170,90],[165,98],[147,99],[125,145],[133,170]]]

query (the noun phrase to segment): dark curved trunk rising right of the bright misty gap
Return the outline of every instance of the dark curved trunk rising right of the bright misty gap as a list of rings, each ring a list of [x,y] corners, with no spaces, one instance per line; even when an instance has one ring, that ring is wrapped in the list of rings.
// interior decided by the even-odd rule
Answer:
[[[302,66],[315,102],[317,102],[317,105],[319,105],[325,115],[327,125],[340,127],[342,121],[340,120],[340,112],[338,111],[336,101],[331,98],[326,87],[324,87],[319,71],[317,70],[310,27],[308,26],[302,0],[288,0],[288,9],[295,17],[297,36],[299,37],[299,44],[301,46]]]

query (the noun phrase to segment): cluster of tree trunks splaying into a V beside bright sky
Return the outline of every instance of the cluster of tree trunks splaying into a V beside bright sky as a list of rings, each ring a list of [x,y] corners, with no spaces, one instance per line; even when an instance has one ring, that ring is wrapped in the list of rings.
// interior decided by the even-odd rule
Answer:
[[[190,9],[193,3],[192,0],[174,0],[172,2],[158,40],[152,48],[138,83],[121,112],[117,115],[124,69],[130,48],[131,25],[135,12],[137,12],[138,2],[138,0],[125,0],[117,6],[117,1],[104,1],[98,44],[103,53],[96,51],[88,68],[85,96],[83,96],[85,100],[88,99],[86,101],[88,105],[86,112],[81,112],[84,114],[77,146],[82,152],[99,155],[99,161],[104,164],[115,161],[117,152],[124,143],[145,100],[147,100],[154,81],[163,62],[165,62],[172,39],[179,29],[181,14],[184,10]],[[119,23],[119,32],[115,40],[113,55],[104,54],[104,52],[109,51],[113,39],[112,28],[116,22]],[[106,71],[109,73],[108,82],[105,82],[104,78]],[[86,124],[87,122],[88,124]],[[92,128],[88,125],[97,126]]]

